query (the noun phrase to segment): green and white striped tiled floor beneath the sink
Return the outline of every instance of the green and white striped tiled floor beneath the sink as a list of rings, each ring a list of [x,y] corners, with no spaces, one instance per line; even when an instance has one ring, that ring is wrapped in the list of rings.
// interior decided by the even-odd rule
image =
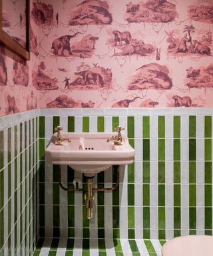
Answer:
[[[161,256],[164,240],[40,239],[33,256]]]

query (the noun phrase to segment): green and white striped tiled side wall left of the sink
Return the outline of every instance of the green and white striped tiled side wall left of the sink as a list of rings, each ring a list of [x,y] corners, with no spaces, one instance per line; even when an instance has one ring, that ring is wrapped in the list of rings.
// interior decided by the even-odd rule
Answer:
[[[33,255],[37,243],[39,111],[0,118],[0,255]]]

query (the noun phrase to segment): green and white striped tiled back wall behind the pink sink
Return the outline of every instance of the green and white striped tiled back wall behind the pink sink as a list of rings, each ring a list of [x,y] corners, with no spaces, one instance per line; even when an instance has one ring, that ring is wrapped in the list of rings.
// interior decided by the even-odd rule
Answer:
[[[41,109],[39,171],[40,237],[170,239],[212,234],[212,109]],[[125,128],[135,161],[120,173],[113,192],[95,193],[95,216],[85,218],[83,194],[59,188],[84,183],[81,173],[45,163],[45,147],[63,131]],[[94,183],[109,187],[116,169]]]

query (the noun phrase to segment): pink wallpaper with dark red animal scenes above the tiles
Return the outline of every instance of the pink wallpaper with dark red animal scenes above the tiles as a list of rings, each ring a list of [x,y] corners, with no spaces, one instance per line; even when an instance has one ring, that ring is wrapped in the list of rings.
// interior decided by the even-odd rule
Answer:
[[[212,24],[212,0],[32,0],[31,61],[0,53],[0,113],[213,107]]]

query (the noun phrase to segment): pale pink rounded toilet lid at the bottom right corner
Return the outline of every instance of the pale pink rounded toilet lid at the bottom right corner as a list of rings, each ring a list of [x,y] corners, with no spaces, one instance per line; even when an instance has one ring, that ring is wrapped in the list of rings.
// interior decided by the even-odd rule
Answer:
[[[212,256],[212,235],[186,235],[167,241],[162,256]]]

